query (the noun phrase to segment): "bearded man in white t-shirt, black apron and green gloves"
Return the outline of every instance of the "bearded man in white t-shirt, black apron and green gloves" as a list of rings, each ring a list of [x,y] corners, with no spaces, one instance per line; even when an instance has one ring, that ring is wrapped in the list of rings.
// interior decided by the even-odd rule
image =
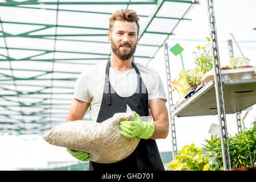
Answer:
[[[138,44],[139,18],[133,10],[118,10],[109,19],[110,60],[93,65],[77,78],[66,122],[82,120],[88,108],[92,121],[102,122],[115,113],[133,110],[136,121],[121,121],[121,135],[141,138],[127,158],[111,164],[89,162],[90,171],[162,171],[155,139],[164,139],[169,131],[166,94],[154,69],[132,61]],[[140,117],[152,117],[151,122]],[[68,149],[75,158],[88,161],[88,152]]]

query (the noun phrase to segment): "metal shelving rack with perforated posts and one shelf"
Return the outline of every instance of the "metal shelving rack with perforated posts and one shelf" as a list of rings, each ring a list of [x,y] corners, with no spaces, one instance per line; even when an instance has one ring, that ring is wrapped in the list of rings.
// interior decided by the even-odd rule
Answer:
[[[236,113],[237,115],[237,129],[238,133],[241,132],[241,110],[246,109],[247,107],[254,105],[255,101],[251,100],[251,98],[256,98],[256,81],[255,78],[249,78],[245,80],[225,80],[225,77],[222,78],[222,74],[227,73],[225,71],[221,71],[220,65],[220,57],[218,53],[218,42],[217,42],[217,32],[216,32],[216,22],[213,8],[213,0],[206,0],[207,8],[208,8],[208,20],[209,20],[209,32],[210,38],[212,40],[212,55],[213,59],[213,70],[214,70],[214,81],[211,80],[207,82],[198,92],[196,92],[191,98],[183,102],[179,107],[176,107],[172,101],[172,93],[171,86],[168,86],[168,105],[170,108],[170,122],[171,122],[171,136],[172,136],[172,148],[173,154],[176,154],[176,134],[175,134],[175,122],[174,118],[176,117],[189,117],[195,115],[214,115],[218,114],[218,121],[220,125],[221,131],[221,148],[222,148],[222,159],[224,171],[231,170],[230,164],[230,155],[229,155],[229,145],[228,145],[228,130],[226,126],[226,111],[229,113]],[[166,62],[166,76],[167,82],[170,84],[171,76],[170,76],[170,65],[168,60],[168,49],[167,43],[164,45],[164,57]],[[228,40],[229,53],[230,57],[233,56],[233,46],[232,41]],[[223,73],[221,73],[223,72]],[[167,84],[167,85],[168,85]],[[234,91],[236,89],[236,91]],[[244,89],[252,90],[250,92],[245,92]],[[233,94],[228,94],[228,93]],[[237,97],[238,94],[241,100],[238,106],[234,107],[237,104],[236,101],[232,100],[232,97]],[[216,98],[214,98],[214,94]],[[225,101],[224,101],[225,94]],[[205,103],[205,99],[208,99],[206,102],[208,103],[207,108],[202,108],[202,104]],[[214,104],[214,102],[216,103]],[[245,100],[245,101],[243,101]],[[227,105],[225,105],[225,103]],[[201,109],[200,109],[201,108]]]

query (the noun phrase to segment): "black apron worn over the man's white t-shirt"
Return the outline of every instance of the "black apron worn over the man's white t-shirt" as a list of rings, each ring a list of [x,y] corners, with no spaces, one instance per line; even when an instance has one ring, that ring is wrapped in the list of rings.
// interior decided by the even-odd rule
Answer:
[[[133,62],[132,62],[133,63]],[[110,60],[106,65],[106,77],[104,93],[101,101],[101,108],[97,122],[105,121],[113,117],[115,113],[125,113],[127,105],[140,116],[148,116],[148,94],[147,88],[139,74],[139,70],[133,63],[137,73],[137,90],[130,97],[121,97],[115,93],[109,82]],[[110,164],[89,162],[90,171],[164,171],[155,140],[141,139],[134,152],[127,158]]]

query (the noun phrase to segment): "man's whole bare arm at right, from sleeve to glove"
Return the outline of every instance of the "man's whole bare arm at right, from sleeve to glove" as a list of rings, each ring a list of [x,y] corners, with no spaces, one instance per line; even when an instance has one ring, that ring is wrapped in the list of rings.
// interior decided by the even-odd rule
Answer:
[[[169,118],[166,103],[156,98],[149,101],[149,107],[154,118],[155,131],[150,139],[166,138],[169,133]]]

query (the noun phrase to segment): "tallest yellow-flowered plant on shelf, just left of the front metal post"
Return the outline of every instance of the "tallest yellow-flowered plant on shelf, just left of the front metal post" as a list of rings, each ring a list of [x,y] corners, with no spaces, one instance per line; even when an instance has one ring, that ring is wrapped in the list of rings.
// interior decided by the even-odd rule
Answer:
[[[210,38],[207,38],[207,40],[209,44]],[[197,46],[196,48],[198,49],[198,52],[193,52],[196,60],[196,67],[200,69],[200,72],[203,75],[205,75],[205,73],[213,69],[212,55],[210,54],[209,46]]]

